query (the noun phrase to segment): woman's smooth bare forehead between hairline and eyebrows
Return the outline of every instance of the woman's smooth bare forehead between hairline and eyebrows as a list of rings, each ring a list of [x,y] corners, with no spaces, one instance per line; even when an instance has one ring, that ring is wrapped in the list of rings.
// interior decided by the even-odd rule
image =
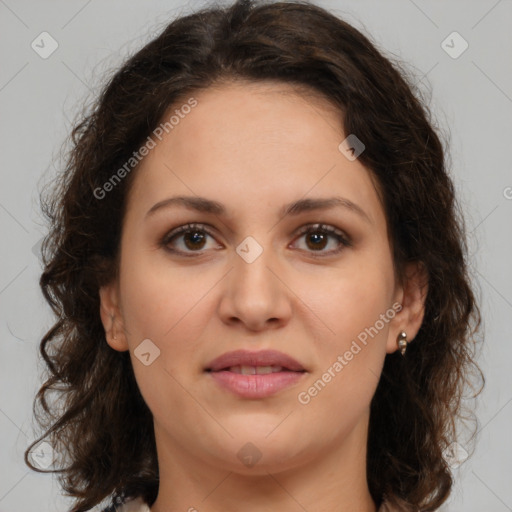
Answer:
[[[370,217],[382,215],[369,171],[338,148],[341,111],[322,96],[282,83],[224,84],[191,96],[193,108],[181,110],[185,99],[169,109],[166,119],[181,114],[179,122],[136,170],[131,209],[183,193],[237,213],[342,195]]]

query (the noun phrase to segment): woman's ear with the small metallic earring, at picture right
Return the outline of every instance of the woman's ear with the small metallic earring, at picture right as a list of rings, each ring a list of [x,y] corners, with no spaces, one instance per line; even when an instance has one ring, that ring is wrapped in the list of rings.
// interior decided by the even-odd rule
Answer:
[[[395,299],[402,309],[395,315],[389,329],[386,352],[398,350],[397,338],[400,332],[412,341],[420,330],[425,314],[425,300],[428,292],[428,273],[421,262],[409,263],[405,269],[404,283],[397,289]]]

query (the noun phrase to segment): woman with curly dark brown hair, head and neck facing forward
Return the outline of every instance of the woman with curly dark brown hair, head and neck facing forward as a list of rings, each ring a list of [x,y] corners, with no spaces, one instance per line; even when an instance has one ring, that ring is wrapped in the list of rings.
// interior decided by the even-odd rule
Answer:
[[[37,396],[73,512],[447,499],[479,312],[428,109],[365,36],[306,2],[204,9],[73,141]]]

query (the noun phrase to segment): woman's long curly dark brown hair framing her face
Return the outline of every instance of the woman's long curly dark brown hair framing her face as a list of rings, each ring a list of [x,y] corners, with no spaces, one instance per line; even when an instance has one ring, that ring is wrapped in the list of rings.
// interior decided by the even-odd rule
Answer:
[[[309,87],[340,108],[340,125],[366,144],[359,160],[378,184],[397,276],[428,274],[422,326],[405,357],[386,356],[371,403],[367,478],[377,504],[435,510],[452,476],[443,450],[456,439],[473,375],[480,313],[468,273],[463,219],[445,151],[419,89],[347,22],[305,1],[209,6],[170,23],[115,73],[72,131],[66,165],[43,197],[44,297],[57,319],[41,340],[48,378],[34,401],[62,458],[62,487],[84,512],[159,485],[153,420],[128,352],[105,341],[100,286],[116,277],[126,197],[136,167],[97,191],[173,104],[226,81]],[[477,392],[478,393],[478,392]],[[51,400],[49,399],[51,395]],[[42,407],[42,411],[38,406]]]

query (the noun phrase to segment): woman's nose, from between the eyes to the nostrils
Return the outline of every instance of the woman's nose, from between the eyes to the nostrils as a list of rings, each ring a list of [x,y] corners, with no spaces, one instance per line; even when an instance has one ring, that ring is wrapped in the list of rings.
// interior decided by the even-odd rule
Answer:
[[[267,248],[249,261],[234,255],[233,268],[223,280],[220,318],[250,331],[283,327],[292,315],[293,293],[279,262]]]

